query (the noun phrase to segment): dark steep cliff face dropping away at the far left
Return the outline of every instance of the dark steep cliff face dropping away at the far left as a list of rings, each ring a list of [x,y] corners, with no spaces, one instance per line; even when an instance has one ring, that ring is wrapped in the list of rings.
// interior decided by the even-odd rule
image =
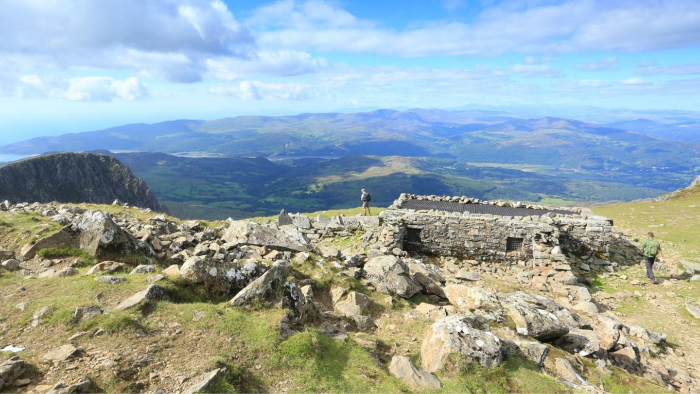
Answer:
[[[0,167],[0,201],[111,204],[116,199],[168,212],[146,182],[112,156],[61,153]]]

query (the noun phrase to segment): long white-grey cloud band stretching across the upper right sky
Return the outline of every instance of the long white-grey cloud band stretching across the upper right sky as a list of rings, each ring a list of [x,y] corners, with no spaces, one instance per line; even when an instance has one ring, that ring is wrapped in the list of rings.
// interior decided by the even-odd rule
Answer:
[[[506,1],[484,8],[470,22],[433,21],[396,30],[356,18],[335,2],[281,0],[259,8],[246,25],[255,31],[260,45],[296,50],[402,57],[634,51],[699,44],[700,3]]]

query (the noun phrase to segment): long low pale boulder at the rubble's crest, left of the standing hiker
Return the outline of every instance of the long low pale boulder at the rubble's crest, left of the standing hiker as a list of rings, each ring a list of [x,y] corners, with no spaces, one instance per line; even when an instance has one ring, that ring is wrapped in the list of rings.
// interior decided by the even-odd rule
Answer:
[[[311,249],[304,235],[293,226],[277,228],[243,220],[232,222],[221,239],[234,247],[258,245],[292,252],[306,252]]]

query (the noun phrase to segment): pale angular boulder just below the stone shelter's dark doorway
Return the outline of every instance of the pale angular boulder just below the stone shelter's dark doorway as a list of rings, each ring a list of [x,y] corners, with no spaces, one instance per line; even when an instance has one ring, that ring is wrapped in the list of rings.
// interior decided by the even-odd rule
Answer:
[[[422,290],[409,275],[406,264],[392,255],[370,257],[365,263],[364,276],[377,286],[377,290],[386,294],[409,298]]]

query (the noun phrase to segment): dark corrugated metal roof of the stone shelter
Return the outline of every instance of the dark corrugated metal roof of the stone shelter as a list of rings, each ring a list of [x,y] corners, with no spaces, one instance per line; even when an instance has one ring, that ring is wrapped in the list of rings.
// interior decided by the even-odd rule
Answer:
[[[535,210],[532,208],[499,207],[498,205],[454,203],[451,201],[405,200],[401,203],[402,209],[409,210],[439,210],[444,212],[469,212],[477,214],[490,214],[497,216],[542,216],[550,212],[560,215],[573,215],[575,212],[566,210]]]

